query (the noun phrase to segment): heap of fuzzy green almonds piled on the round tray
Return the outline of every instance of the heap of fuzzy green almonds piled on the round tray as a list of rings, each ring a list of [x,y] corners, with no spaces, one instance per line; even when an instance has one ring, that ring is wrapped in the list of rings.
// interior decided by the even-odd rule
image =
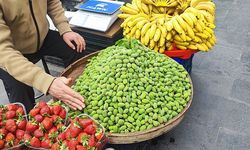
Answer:
[[[190,100],[187,71],[134,39],[122,39],[89,60],[72,88],[84,113],[112,133],[144,131],[177,116]]]

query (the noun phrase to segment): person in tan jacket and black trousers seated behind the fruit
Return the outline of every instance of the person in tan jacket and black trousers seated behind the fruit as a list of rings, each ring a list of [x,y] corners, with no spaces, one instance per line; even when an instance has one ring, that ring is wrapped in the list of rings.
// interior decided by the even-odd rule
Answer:
[[[49,15],[57,31],[49,30]],[[34,107],[34,90],[58,98],[73,109],[85,107],[70,79],[53,77],[35,63],[56,56],[67,67],[85,56],[84,38],[73,32],[60,0],[0,0],[0,79],[10,102]]]

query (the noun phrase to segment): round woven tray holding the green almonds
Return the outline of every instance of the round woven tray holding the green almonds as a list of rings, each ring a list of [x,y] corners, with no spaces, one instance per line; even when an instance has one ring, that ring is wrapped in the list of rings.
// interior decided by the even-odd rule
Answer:
[[[98,52],[92,53],[90,55],[87,55],[78,61],[74,62],[70,66],[68,66],[61,74],[61,76],[72,78],[72,83],[70,84],[73,85],[75,80],[82,74],[84,71],[84,68],[86,64],[88,63],[88,60],[94,56],[96,56]],[[173,129],[175,126],[177,126],[182,119],[184,118],[184,115],[188,108],[190,107],[192,100],[193,100],[193,84],[192,80],[189,76],[191,86],[192,86],[192,94],[190,97],[190,100],[186,106],[186,108],[183,109],[181,113],[179,113],[176,117],[173,119],[169,120],[167,123],[163,123],[159,125],[158,127],[142,131],[142,132],[133,132],[133,133],[107,133],[107,136],[109,138],[109,143],[111,144],[131,144],[131,143],[137,143],[137,142],[142,142],[146,140],[153,139],[155,137],[158,137],[171,129]]]

